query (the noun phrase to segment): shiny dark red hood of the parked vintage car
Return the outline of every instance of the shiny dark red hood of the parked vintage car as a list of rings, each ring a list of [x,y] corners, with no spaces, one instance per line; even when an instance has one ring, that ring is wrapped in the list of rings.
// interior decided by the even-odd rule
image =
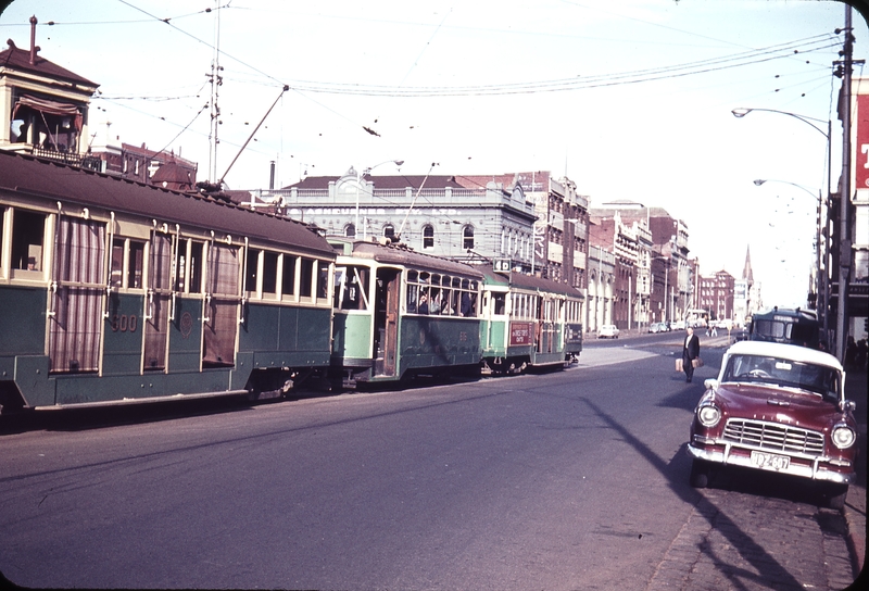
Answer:
[[[817,430],[830,427],[843,418],[852,425],[854,423],[853,417],[840,411],[832,402],[796,390],[727,383],[716,390],[715,400],[729,417],[784,423]]]

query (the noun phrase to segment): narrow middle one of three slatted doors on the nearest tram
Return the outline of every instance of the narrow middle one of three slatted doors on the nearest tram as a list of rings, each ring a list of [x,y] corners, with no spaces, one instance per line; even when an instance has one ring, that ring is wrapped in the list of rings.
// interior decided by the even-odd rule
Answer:
[[[165,369],[172,297],[172,238],[151,232],[151,264],[144,301],[143,368]]]

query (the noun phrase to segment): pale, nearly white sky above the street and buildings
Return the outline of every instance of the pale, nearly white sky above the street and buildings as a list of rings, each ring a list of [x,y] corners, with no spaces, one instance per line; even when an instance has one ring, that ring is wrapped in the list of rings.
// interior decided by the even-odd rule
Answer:
[[[440,174],[551,171],[592,206],[628,199],[683,219],[704,274],[741,275],[751,246],[765,303],[805,297],[826,139],[793,117],[731,110],[824,129],[832,118],[835,185],[840,2],[14,0],[0,35],[27,47],[34,14],[41,55],[100,84],[96,144],[169,148],[200,178],[222,176],[280,97],[231,188],[266,187],[272,161],[279,186],[390,160],[407,174],[432,162]],[[853,21],[865,59],[866,21]],[[215,46],[223,124],[210,166]]]

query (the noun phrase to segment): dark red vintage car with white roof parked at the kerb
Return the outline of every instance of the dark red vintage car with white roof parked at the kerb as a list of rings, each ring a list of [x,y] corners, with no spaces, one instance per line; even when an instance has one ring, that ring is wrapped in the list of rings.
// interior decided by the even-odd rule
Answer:
[[[706,487],[716,466],[744,466],[819,481],[829,506],[842,508],[855,480],[857,426],[834,356],[741,341],[705,386],[688,443],[691,486]]]

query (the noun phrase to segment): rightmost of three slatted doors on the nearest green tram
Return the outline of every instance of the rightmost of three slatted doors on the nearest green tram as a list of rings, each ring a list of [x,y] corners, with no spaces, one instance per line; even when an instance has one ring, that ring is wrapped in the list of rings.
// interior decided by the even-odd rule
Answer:
[[[227,367],[236,363],[236,337],[241,303],[240,274],[240,249],[213,242],[209,248],[203,367]]]

